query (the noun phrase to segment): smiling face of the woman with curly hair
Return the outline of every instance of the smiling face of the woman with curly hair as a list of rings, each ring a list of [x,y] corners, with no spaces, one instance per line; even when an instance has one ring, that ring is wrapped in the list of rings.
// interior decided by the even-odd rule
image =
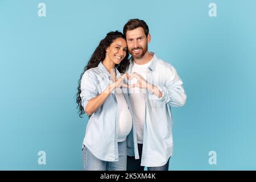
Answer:
[[[106,56],[114,64],[120,64],[123,58],[126,56],[127,44],[123,38],[117,38],[112,44],[106,49]]]

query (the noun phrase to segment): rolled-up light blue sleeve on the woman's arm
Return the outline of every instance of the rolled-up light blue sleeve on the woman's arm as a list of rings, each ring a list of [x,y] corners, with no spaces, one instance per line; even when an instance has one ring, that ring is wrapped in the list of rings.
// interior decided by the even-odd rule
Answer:
[[[97,92],[97,80],[94,78],[92,73],[85,72],[81,79],[81,105],[86,108],[88,101],[98,96]],[[86,114],[86,113],[85,113]]]

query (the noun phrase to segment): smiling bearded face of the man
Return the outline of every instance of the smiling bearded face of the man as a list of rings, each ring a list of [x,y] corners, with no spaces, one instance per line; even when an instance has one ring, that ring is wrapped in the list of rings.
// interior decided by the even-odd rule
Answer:
[[[147,43],[150,42],[150,34],[146,37],[142,27],[126,32],[126,41],[129,53],[134,59],[141,59],[147,52]]]

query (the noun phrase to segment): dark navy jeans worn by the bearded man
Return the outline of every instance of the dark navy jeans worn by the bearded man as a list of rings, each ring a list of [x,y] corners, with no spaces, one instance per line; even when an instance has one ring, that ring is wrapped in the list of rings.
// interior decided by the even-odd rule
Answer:
[[[141,166],[141,156],[142,156],[142,146],[143,144],[138,143],[139,159],[135,159],[134,156],[127,156],[127,171],[144,171],[144,166]],[[147,167],[148,171],[168,171],[169,160],[164,166],[159,167]]]

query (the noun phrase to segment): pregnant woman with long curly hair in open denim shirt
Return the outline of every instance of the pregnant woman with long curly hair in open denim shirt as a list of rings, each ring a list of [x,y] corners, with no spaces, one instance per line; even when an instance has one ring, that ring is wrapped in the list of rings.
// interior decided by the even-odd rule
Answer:
[[[80,117],[89,116],[82,145],[84,170],[126,170],[127,135],[137,141],[127,96],[128,75],[119,73],[129,65],[128,56],[123,34],[109,32],[81,74],[77,104]],[[138,159],[137,145],[134,148]]]

